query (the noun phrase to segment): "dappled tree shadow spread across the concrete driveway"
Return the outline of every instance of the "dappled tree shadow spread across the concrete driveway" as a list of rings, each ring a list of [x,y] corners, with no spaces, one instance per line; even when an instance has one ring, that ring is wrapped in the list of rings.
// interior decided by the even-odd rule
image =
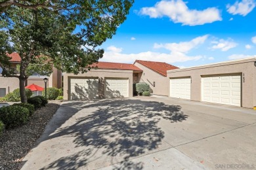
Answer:
[[[133,163],[131,158],[156,150],[162,144],[164,132],[158,122],[165,119],[175,123],[188,118],[179,105],[139,99],[74,101],[62,107],[72,110],[68,118],[75,114],[76,120],[70,126],[52,129],[54,133],[45,140],[71,135],[75,148],[83,147],[83,150],[43,169],[77,169],[102,156],[116,159],[111,159],[112,164],[122,161],[116,169],[142,169],[143,163]]]

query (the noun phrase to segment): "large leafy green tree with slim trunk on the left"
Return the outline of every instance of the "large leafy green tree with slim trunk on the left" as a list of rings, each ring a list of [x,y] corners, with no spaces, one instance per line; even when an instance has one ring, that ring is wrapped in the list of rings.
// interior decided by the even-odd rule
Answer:
[[[85,67],[102,58],[104,50],[97,47],[112,38],[132,4],[133,0],[1,2],[2,76],[19,78],[20,97],[26,103],[25,82],[32,73],[49,75],[53,66],[66,73],[86,72]],[[16,69],[9,61],[11,52],[21,58]]]

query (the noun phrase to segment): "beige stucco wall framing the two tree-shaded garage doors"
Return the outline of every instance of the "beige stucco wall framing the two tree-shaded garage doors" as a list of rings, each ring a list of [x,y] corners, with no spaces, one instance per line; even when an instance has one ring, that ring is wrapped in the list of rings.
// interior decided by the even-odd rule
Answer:
[[[98,96],[104,98],[104,79],[105,78],[129,78],[129,97],[133,97],[133,71],[114,70],[114,69],[95,69],[87,73],[78,75],[64,73],[63,75],[63,97],[70,99],[70,78],[97,77],[99,78]]]

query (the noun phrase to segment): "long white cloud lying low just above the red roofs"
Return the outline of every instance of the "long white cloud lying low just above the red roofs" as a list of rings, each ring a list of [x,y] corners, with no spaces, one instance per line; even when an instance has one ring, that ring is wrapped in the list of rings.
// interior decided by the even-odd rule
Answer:
[[[208,35],[202,37],[197,37],[188,42],[180,43],[169,43],[169,44],[154,44],[154,48],[165,48],[170,51],[170,53],[160,53],[160,52],[140,52],[137,54],[123,54],[121,51],[116,52],[115,46],[110,46],[107,48],[104,56],[100,61],[114,61],[120,63],[133,63],[136,59],[149,60],[149,61],[162,61],[166,63],[184,62],[184,61],[196,61],[201,59],[202,56],[188,56],[187,53],[196,48],[199,44],[202,44]],[[117,48],[120,49],[120,48]]]

